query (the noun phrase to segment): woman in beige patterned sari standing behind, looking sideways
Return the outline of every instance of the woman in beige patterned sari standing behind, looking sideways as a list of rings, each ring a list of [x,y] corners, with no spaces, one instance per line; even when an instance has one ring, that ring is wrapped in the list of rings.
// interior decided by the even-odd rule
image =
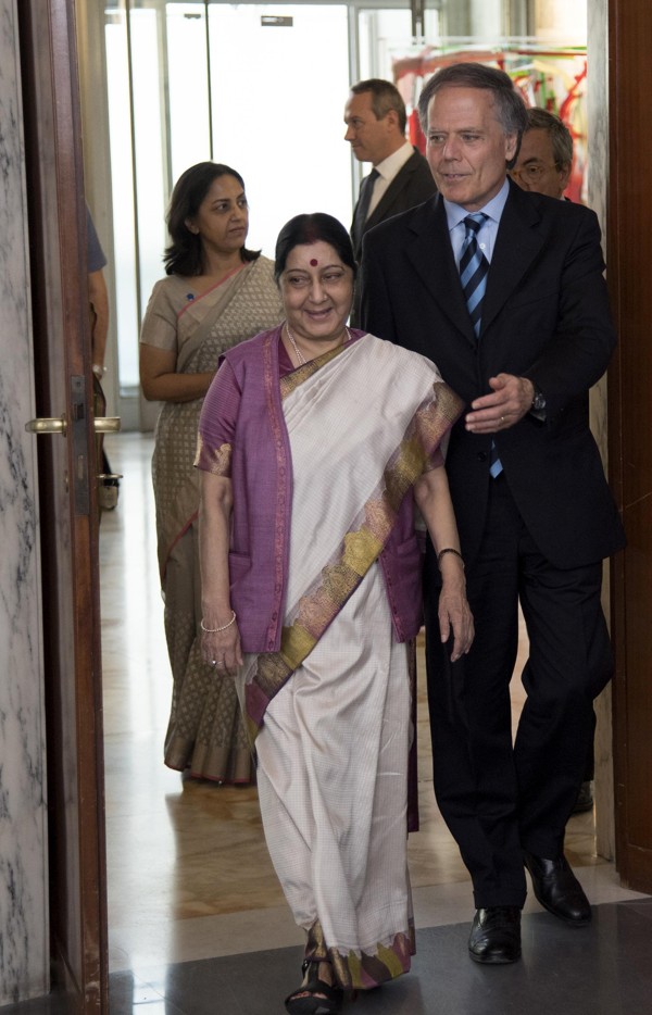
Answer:
[[[203,397],[220,355],[280,319],[273,264],[246,248],[249,212],[235,170],[212,162],[178,179],[167,213],[167,275],[140,336],[147,399],[163,402],[152,477],[173,700],[165,764],[218,782],[249,782],[251,751],[229,679],[200,652],[199,483],[192,467]]]

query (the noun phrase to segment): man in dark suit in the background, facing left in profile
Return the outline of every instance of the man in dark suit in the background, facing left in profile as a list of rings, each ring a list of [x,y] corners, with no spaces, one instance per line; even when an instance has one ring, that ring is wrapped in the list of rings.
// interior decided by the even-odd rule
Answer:
[[[344,140],[353,154],[374,167],[362,180],[351,225],[353,252],[360,261],[367,229],[427,201],[436,187],[427,161],[405,140],[405,103],[391,82],[369,78],[353,85],[344,123]]]

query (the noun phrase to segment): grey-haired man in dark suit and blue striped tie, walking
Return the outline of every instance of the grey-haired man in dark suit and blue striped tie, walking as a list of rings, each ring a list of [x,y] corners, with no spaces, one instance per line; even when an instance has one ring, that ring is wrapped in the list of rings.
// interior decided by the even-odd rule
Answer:
[[[612,674],[602,560],[624,535],[588,406],[615,335],[595,215],[506,178],[527,124],[509,76],[446,67],[419,116],[439,195],[366,235],[362,321],[434,360],[468,406],[447,472],[476,639],[450,663],[437,607],[452,555],[429,546],[428,696],[437,799],[473,878],[471,957],[504,963],[521,954],[525,867],[547,910],[591,918],[563,843]],[[513,745],[518,601],[530,654]]]

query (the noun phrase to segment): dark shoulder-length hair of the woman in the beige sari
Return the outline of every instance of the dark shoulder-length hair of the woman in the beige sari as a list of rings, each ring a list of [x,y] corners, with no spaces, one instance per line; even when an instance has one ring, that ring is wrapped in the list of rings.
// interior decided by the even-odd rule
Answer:
[[[244,180],[239,173],[220,162],[198,162],[181,173],[170,199],[165,221],[172,243],[165,248],[163,263],[167,275],[201,275],[203,271],[201,237],[191,233],[186,222],[195,218],[200,204],[211,189],[213,180],[221,176],[233,176],[244,190]],[[242,261],[255,261],[260,250],[242,247]]]

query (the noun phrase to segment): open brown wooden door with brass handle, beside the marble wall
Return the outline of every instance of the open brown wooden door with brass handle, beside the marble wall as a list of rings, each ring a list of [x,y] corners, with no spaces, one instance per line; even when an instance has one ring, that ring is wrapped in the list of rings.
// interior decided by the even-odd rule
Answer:
[[[73,0],[17,4],[29,215],[50,927],[71,1013],[108,1011],[97,496]]]

